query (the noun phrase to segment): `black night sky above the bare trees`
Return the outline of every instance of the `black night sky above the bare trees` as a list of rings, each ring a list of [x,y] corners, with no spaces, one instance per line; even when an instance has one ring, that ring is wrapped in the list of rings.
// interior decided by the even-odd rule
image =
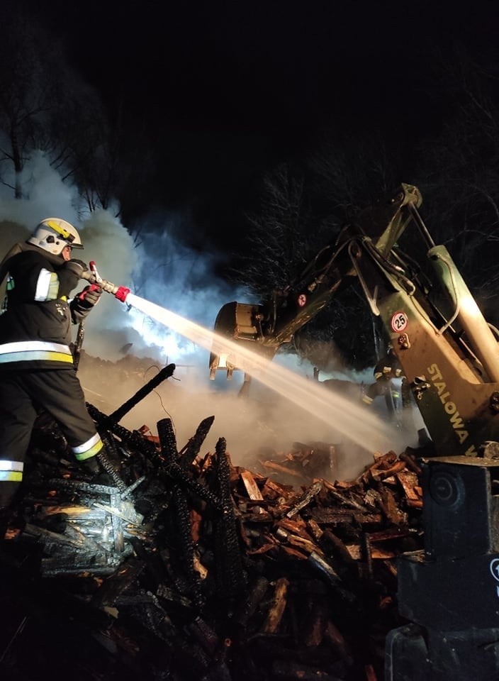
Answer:
[[[434,51],[460,44],[480,60],[494,40],[485,6],[468,5],[125,0],[111,13],[55,0],[43,21],[130,149],[140,139],[152,153],[142,200],[191,210],[198,238],[230,248],[264,172],[310,153],[325,128],[381,131],[410,175],[415,142],[447,115]]]

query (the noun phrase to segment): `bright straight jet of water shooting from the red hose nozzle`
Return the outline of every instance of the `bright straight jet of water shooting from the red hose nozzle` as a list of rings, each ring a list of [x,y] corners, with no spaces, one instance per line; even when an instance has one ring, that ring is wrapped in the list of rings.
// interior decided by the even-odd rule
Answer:
[[[333,424],[349,441],[381,452],[393,448],[393,427],[364,406],[353,404],[340,395],[327,391],[318,382],[307,380],[286,367],[269,362],[249,348],[135,294],[128,294],[126,303],[189,338],[196,345],[217,355],[226,355],[232,365],[245,370],[252,378],[298,405],[300,409],[329,425]],[[208,371],[208,362],[206,370]]]

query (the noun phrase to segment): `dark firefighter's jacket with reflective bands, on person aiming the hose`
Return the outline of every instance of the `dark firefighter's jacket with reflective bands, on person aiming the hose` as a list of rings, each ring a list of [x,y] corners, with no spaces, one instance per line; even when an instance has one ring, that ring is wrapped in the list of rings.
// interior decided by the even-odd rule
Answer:
[[[0,371],[73,367],[71,326],[91,306],[78,297],[70,299],[79,281],[70,262],[29,244],[16,244],[7,254],[0,270],[6,278]]]

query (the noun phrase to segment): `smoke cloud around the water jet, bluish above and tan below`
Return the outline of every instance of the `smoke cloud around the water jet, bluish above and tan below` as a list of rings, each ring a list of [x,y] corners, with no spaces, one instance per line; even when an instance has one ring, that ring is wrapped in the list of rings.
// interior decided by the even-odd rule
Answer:
[[[0,188],[1,257],[13,243],[26,240],[41,219],[57,216],[79,230],[84,250],[76,257],[94,260],[103,279],[128,287],[205,328],[213,328],[216,314],[226,302],[252,302],[248,292],[231,289],[213,275],[213,257],[194,253],[174,239],[172,223],[188,216],[164,216],[159,221],[155,216],[154,223],[146,219],[135,243],[116,217],[118,206],[90,213],[77,189],[62,182],[42,153],[33,155],[21,182],[27,199],[14,199],[9,183]],[[76,336],[76,328],[74,333]],[[121,423],[126,428],[146,425],[157,434],[157,422],[171,418],[181,448],[194,435],[198,423],[213,415],[215,421],[201,453],[213,451],[218,438],[224,437],[236,465],[252,467],[260,459],[269,458],[269,453],[285,459],[294,441],[323,441],[344,447],[347,455],[338,462],[336,477],[354,477],[372,462],[369,439],[365,450],[350,446],[334,424],[328,426],[314,419],[305,409],[258,383],[252,384],[247,398],[238,397],[242,375],[237,372],[232,381],[227,381],[221,371],[215,381],[210,381],[206,350],[111,295],[103,294],[86,321],[83,350],[78,371],[86,399],[106,414],[128,400],[164,365],[176,365],[174,376],[123,418]],[[291,355],[278,355],[274,361],[313,377],[313,367]],[[355,382],[372,381],[372,375],[345,377]],[[402,443],[400,434],[394,431],[391,448],[408,444],[413,443]]]

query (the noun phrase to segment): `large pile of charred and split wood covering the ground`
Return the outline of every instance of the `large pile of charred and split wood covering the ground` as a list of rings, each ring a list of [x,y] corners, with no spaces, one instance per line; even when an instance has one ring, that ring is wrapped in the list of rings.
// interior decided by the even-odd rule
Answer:
[[[225,438],[201,455],[213,416],[183,448],[170,419],[157,436],[120,426],[173,370],[113,414],[87,405],[97,476],[40,419],[0,550],[0,677],[381,681],[386,633],[405,624],[396,558],[422,548],[415,452],[331,482],[313,475],[325,443],[247,470]]]

